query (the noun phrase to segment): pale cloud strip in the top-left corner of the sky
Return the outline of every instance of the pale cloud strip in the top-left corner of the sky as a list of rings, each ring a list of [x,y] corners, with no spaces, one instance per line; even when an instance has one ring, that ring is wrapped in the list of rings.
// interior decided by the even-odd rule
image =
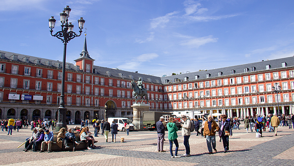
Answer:
[[[0,0],[0,11],[40,9],[45,0]]]

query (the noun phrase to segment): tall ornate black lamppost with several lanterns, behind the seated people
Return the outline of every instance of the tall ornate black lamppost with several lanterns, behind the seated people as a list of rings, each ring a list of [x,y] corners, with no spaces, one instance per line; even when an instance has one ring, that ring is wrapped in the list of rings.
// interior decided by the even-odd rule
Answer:
[[[61,22],[61,31],[56,32],[54,35],[52,34],[53,28],[55,26],[55,19],[53,16],[49,19],[49,28],[51,29],[51,36],[54,36],[58,39],[60,39],[64,43],[63,47],[63,66],[62,66],[62,81],[61,81],[61,101],[60,105],[57,108],[58,111],[58,118],[57,118],[57,123],[55,127],[55,131],[59,131],[60,128],[65,127],[67,129],[66,125],[66,110],[64,106],[64,86],[65,86],[65,60],[66,60],[66,46],[67,43],[70,42],[75,37],[79,37],[82,34],[82,29],[84,26],[85,21],[81,17],[81,19],[78,20],[78,28],[79,30],[79,35],[77,35],[75,32],[73,32],[73,24],[72,22],[68,22],[68,18],[70,17],[70,12],[71,8],[69,6],[66,6],[64,8],[64,11],[60,13],[60,22]]]

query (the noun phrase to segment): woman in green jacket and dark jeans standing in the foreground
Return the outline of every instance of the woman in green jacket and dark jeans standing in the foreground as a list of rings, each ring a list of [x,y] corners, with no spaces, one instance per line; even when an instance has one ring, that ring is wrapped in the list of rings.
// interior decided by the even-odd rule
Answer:
[[[172,158],[181,157],[181,156],[177,155],[177,151],[178,151],[178,148],[179,148],[179,143],[178,143],[178,141],[176,139],[177,138],[177,133],[176,132],[178,131],[178,128],[172,121],[173,121],[173,118],[170,117],[169,118],[169,123],[167,125],[168,130],[169,130],[170,152],[171,152]],[[172,154],[172,142],[175,144],[175,155]]]

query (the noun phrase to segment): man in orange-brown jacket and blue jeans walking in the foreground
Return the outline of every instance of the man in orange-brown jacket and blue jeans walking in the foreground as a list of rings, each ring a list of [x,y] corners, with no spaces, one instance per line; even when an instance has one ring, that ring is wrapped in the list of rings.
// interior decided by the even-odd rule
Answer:
[[[219,131],[219,125],[214,121],[211,115],[208,115],[208,120],[204,123],[204,138],[206,138],[206,144],[209,151],[209,154],[212,154],[212,148],[215,152],[216,149],[216,131]],[[211,148],[212,145],[212,148]]]

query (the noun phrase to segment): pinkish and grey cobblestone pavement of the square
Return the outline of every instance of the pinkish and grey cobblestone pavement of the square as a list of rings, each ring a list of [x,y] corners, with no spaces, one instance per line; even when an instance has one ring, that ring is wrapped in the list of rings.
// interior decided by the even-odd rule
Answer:
[[[72,126],[72,125],[70,125]],[[241,125],[240,128],[243,128]],[[90,131],[94,133],[91,127]],[[171,158],[169,141],[164,142],[166,152],[157,152],[156,131],[133,131],[129,136],[119,132],[116,143],[106,143],[101,135],[95,137],[98,141],[96,149],[80,151],[59,151],[52,153],[24,152],[24,145],[17,148],[25,138],[30,137],[30,129],[13,131],[12,135],[0,131],[0,165],[1,166],[206,166],[206,165],[234,165],[234,166],[294,166],[294,129],[278,127],[278,136],[273,132],[264,132],[262,138],[255,138],[255,132],[246,133],[245,129],[233,130],[229,139],[230,150],[223,153],[222,143],[217,139],[217,153],[208,154],[206,139],[196,136],[190,137],[191,157]],[[185,154],[183,137],[178,131],[179,155]],[[111,141],[111,134],[109,134]],[[173,145],[173,150],[175,145]]]

